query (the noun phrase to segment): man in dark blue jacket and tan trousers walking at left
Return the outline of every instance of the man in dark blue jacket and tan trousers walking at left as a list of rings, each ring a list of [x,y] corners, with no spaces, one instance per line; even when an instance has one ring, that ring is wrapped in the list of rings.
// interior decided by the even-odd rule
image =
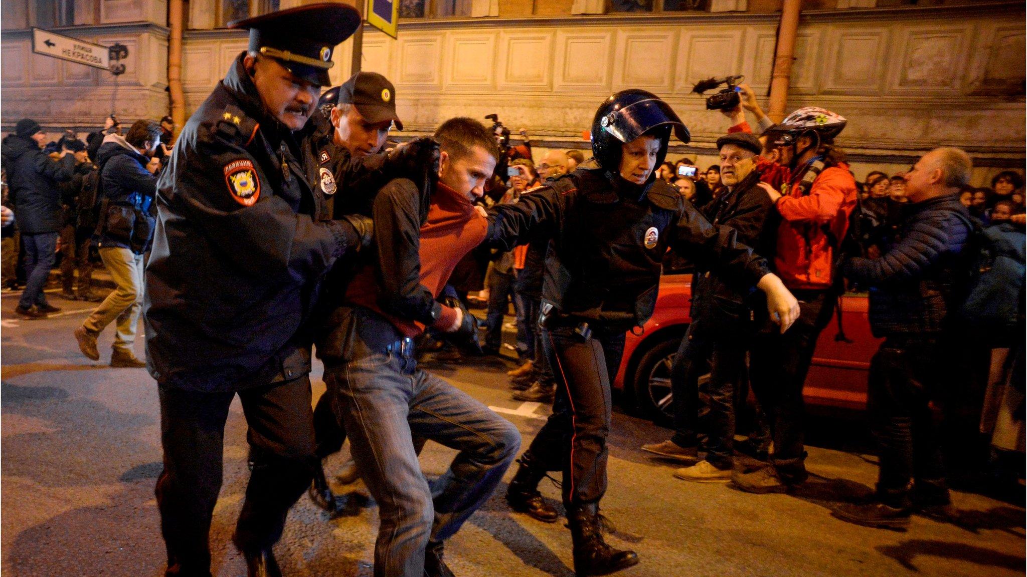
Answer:
[[[136,329],[143,305],[143,254],[153,239],[153,195],[157,180],[147,170],[150,156],[160,144],[160,124],[137,120],[128,133],[108,134],[97,154],[103,221],[97,228],[100,258],[117,288],[75,330],[82,354],[100,359],[97,336],[117,319],[111,367],[142,368],[132,353]]]

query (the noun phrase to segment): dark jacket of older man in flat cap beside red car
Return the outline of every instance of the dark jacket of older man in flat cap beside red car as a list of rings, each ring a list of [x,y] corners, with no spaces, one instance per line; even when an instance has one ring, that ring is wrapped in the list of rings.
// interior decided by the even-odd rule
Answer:
[[[773,259],[781,217],[770,196],[759,187],[754,170],[740,183],[700,209],[715,225],[729,226],[738,242],[752,246],[759,256]],[[692,275],[692,318],[702,316],[715,322],[767,320],[766,298],[755,284],[739,286],[726,281],[716,268],[696,266]]]

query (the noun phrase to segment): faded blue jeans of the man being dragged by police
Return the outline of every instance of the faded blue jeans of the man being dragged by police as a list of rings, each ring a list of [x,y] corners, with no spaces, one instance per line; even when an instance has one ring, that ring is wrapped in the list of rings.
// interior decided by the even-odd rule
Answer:
[[[484,503],[509,467],[521,433],[509,421],[439,377],[416,368],[412,354],[379,352],[359,335],[346,360],[326,359],[353,459],[380,506],[376,577],[422,577],[424,550],[452,536]],[[380,332],[380,331],[379,331]],[[412,438],[459,451],[429,487]]]

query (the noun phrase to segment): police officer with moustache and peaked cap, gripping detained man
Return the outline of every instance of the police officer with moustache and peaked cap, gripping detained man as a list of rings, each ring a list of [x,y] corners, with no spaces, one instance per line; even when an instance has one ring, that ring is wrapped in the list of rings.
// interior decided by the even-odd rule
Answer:
[[[367,219],[330,219],[327,199],[356,179],[404,176],[418,150],[353,161],[338,154],[315,112],[332,52],[358,23],[338,3],[234,23],[250,30],[250,46],[186,123],[158,182],[144,310],[160,397],[156,495],[167,575],[210,575],[207,535],[236,394],[253,472],[233,540],[251,576],[280,574],[271,546],[314,462],[317,287],[333,263],[370,240]]]

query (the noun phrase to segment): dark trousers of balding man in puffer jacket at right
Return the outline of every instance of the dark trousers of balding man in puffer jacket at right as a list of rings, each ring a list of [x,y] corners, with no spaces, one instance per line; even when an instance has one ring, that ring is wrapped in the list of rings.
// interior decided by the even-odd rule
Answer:
[[[934,338],[888,337],[870,361],[867,408],[880,455],[877,492],[891,506],[909,505],[911,479],[917,489],[944,488],[939,426],[929,405],[941,400],[954,352],[946,354]]]

